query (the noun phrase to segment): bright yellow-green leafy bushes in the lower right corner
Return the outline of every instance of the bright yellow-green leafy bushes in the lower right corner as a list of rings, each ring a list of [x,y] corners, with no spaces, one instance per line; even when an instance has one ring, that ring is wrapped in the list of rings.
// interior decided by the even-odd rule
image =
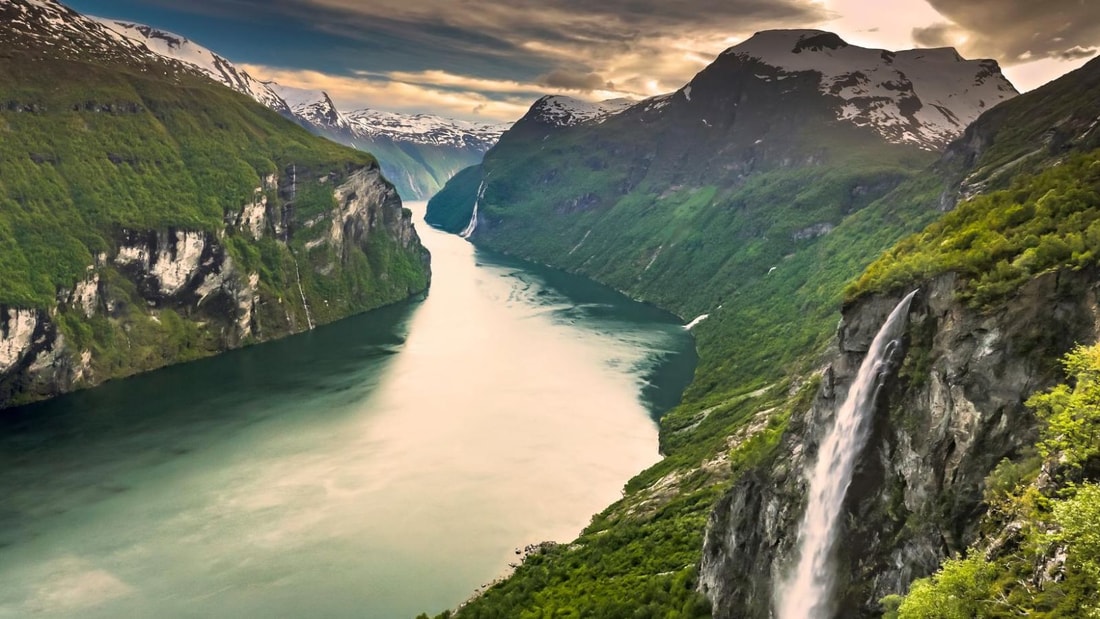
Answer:
[[[1100,617],[1100,345],[1078,347],[1065,368],[1071,384],[1028,400],[1041,457],[990,475],[987,538],[883,600],[887,617]]]

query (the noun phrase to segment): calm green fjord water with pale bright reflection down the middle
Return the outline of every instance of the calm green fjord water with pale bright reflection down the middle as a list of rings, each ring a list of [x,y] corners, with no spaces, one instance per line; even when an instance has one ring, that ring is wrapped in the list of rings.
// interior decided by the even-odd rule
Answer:
[[[0,413],[0,618],[438,612],[617,499],[688,333],[418,229],[426,300]]]

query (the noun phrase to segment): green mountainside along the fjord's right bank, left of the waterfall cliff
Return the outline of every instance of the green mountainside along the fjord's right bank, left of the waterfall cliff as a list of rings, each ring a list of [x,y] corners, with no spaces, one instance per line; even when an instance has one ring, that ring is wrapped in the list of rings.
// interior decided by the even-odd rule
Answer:
[[[714,500],[773,450],[791,411],[806,406],[815,383],[792,378],[807,374],[827,342],[844,285],[937,217],[942,180],[914,172],[933,157],[835,128],[822,133],[810,143],[833,145],[827,152],[792,155],[822,165],[776,166],[744,183],[652,166],[622,196],[608,187],[636,175],[636,159],[606,135],[574,130],[527,146],[535,155],[506,143],[490,153],[480,207],[490,223],[479,242],[582,273],[685,319],[711,318],[695,330],[695,380],[661,421],[667,457],[632,479],[576,542],[529,559],[461,616],[708,615],[694,571]],[[789,152],[798,147],[792,141]],[[462,195],[481,177],[480,168],[460,174],[437,203],[468,200]],[[585,196],[601,200],[586,206]],[[469,209],[435,211],[433,223],[451,229],[470,217]],[[818,223],[835,229],[794,237]]]

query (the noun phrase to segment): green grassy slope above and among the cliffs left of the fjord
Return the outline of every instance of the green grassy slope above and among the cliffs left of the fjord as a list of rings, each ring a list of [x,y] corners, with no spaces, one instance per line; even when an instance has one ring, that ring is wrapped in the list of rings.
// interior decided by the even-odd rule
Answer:
[[[234,262],[261,276],[256,320],[263,339],[305,327],[295,255],[317,322],[426,287],[420,252],[384,234],[341,264],[328,245],[307,252],[308,231],[287,247],[227,230],[224,217],[251,201],[268,174],[284,176],[295,166],[301,183],[293,217],[302,221],[334,205],[321,176],[342,177],[376,162],[229,89],[161,75],[164,69],[43,58],[0,46],[0,305],[53,308],[58,291],[82,279],[123,228],[226,231],[221,242]],[[280,203],[277,191],[268,198]],[[340,268],[328,277],[308,268],[332,263]],[[106,296],[117,302],[113,316],[88,319],[66,308],[54,316],[76,349],[95,353],[98,380],[224,346],[218,325],[189,319],[189,308],[154,312],[113,266],[99,272]]]

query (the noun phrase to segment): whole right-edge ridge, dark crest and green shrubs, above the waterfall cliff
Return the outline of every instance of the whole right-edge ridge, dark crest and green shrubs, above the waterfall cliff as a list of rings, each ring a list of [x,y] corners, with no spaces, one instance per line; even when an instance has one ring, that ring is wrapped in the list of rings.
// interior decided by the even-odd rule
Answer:
[[[985,194],[891,248],[847,298],[956,272],[967,300],[982,306],[1043,270],[1096,264],[1098,118],[1100,60],[981,117],[964,140],[981,144],[965,186]]]

